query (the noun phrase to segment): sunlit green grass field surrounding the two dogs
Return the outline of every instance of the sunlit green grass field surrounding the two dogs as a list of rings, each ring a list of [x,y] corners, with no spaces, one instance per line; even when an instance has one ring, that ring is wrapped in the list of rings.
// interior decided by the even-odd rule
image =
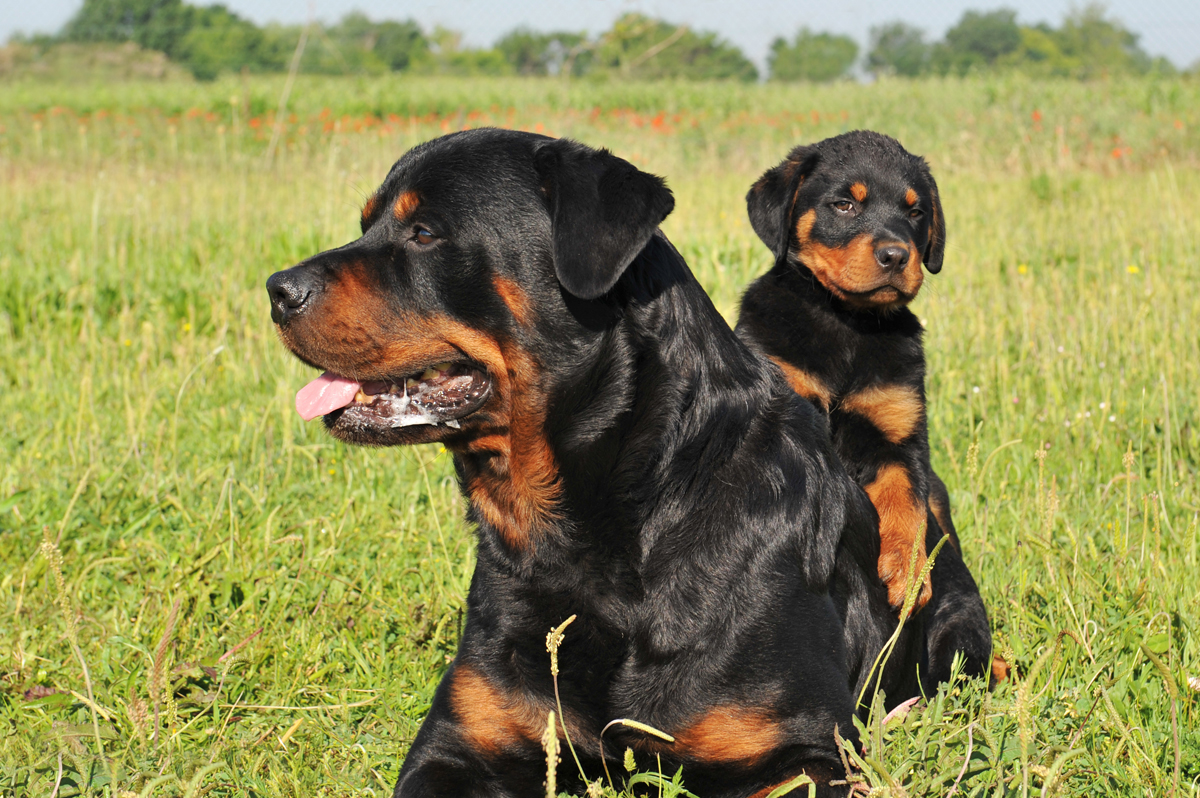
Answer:
[[[301,79],[277,128],[281,90],[0,84],[0,798],[390,793],[472,532],[444,452],[295,415],[263,282],[485,124],[664,174],[731,320],[760,172],[925,154],[935,468],[1016,674],[869,730],[872,794],[1200,794],[1200,84]]]

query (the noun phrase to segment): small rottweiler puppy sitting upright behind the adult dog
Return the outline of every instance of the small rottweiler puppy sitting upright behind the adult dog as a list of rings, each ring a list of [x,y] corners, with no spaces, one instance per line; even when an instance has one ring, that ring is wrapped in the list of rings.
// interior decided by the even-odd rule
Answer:
[[[738,334],[828,415],[838,455],[878,512],[878,574],[893,607],[928,547],[950,535],[916,602],[934,598],[926,686],[949,676],[955,652],[968,673],[988,674],[988,614],[930,467],[922,325],[907,308],[922,263],[937,274],[946,247],[929,167],[893,138],[854,131],[796,148],[746,203],[775,265],[746,290]]]

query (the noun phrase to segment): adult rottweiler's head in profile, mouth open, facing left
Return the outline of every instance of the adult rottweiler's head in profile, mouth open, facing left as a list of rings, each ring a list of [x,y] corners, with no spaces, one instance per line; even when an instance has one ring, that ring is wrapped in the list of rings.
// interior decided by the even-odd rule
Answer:
[[[414,148],[361,238],[268,280],[283,343],[326,372],[296,409],[374,445],[538,426],[566,304],[608,292],[672,206],[659,178],[569,140],[476,130]]]

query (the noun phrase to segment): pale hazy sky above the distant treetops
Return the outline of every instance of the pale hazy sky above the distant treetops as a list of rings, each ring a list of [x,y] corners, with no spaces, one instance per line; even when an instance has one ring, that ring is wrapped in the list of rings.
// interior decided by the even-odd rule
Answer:
[[[205,0],[190,0],[208,5]],[[82,0],[0,0],[0,41],[16,31],[54,32],[79,8]],[[301,23],[308,14],[306,0],[224,0],[232,11],[258,24]],[[318,19],[335,22],[349,11],[362,11],[372,19],[413,18],[426,29],[434,25],[464,34],[466,43],[488,46],[509,30],[526,25],[535,30],[607,29],[626,11],[641,11],[670,22],[689,24],[720,34],[762,66],[770,41],[791,36],[800,26],[848,34],[865,44],[872,25],[901,19],[923,28],[930,38],[941,38],[967,8],[989,11],[1008,7],[1024,24],[1048,22],[1058,25],[1072,0],[312,0]],[[1200,61],[1200,2],[1196,0],[1111,0],[1105,4],[1111,17],[1141,36],[1151,55],[1165,55],[1176,66]]]

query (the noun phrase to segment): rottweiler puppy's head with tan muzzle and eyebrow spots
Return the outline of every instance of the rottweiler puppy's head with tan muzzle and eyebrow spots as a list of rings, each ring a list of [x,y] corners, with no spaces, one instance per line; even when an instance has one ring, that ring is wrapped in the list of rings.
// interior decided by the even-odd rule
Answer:
[[[798,146],[746,194],[750,222],[775,253],[859,310],[910,302],[942,269],[946,222],[924,158],[881,133]]]

